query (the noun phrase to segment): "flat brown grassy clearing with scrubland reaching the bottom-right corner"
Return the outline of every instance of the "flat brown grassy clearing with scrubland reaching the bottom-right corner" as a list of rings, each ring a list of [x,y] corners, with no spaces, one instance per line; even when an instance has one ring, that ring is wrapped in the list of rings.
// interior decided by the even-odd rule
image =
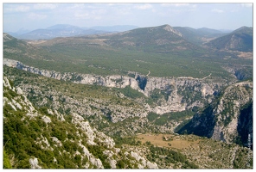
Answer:
[[[253,157],[253,151],[238,144],[226,144],[192,134],[145,133],[139,134],[137,138],[145,145],[180,152],[187,157],[189,163],[195,163],[199,169],[237,169],[238,166],[239,169],[253,168],[250,165],[252,159],[249,158]],[[166,158],[168,156],[164,157]]]

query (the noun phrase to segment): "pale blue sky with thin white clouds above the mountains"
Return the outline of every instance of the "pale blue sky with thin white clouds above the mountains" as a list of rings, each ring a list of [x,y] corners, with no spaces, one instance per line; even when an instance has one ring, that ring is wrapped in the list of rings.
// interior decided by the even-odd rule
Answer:
[[[3,32],[55,24],[234,30],[253,27],[253,3],[3,3]]]

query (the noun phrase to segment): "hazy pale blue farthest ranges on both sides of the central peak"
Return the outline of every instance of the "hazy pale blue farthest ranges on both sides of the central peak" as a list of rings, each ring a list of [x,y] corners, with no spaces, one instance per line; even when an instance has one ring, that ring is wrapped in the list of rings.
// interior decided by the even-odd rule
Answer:
[[[48,28],[38,28],[35,30],[25,30],[20,29],[16,33],[7,32],[8,34],[24,40],[49,40],[55,37],[67,37],[67,36],[80,36],[88,34],[106,34],[106,33],[116,33],[116,32],[125,32],[137,26],[131,25],[117,25],[117,26],[95,26],[91,28],[80,28],[73,25],[67,24],[57,24]],[[194,39],[199,39],[199,36],[204,36],[208,38],[220,36],[227,34],[221,30],[215,30],[211,28],[188,28],[188,27],[174,27],[177,31],[181,32],[183,35],[188,35],[189,37],[194,37]],[[229,31],[231,32],[231,31]],[[188,37],[188,38],[189,38]],[[198,40],[200,43],[201,40]]]

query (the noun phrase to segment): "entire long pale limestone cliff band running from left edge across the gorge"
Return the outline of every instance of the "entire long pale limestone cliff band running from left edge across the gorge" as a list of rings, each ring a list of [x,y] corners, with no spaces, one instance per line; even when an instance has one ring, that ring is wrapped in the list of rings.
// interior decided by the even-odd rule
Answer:
[[[4,58],[3,64],[16,67],[23,71],[30,71],[45,77],[74,83],[97,84],[106,87],[125,88],[131,86],[146,96],[158,96],[157,105],[151,111],[164,114],[183,111],[191,107],[203,107],[214,98],[214,93],[227,85],[225,82],[213,82],[205,78],[193,77],[150,77],[135,74],[135,77],[106,76],[79,73],[60,73],[56,71],[39,70],[16,60]],[[210,76],[208,76],[210,77]]]

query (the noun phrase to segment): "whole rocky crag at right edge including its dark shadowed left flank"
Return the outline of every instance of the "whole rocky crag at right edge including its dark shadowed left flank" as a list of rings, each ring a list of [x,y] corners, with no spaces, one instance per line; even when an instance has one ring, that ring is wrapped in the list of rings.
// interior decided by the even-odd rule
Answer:
[[[180,132],[222,140],[226,143],[250,144],[253,134],[253,83],[241,82],[228,86],[219,100],[182,128]],[[250,136],[249,136],[250,135]]]

